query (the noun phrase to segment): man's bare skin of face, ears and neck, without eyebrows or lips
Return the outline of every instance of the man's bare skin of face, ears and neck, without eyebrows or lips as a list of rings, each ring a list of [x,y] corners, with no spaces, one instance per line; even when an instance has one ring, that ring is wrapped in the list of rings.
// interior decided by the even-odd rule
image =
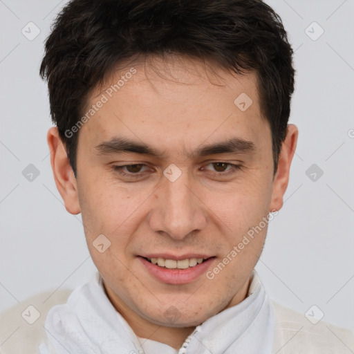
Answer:
[[[129,68],[96,88],[88,107]],[[55,127],[48,131],[51,165],[66,210],[82,213],[88,249],[113,306],[136,335],[180,348],[195,326],[245,299],[267,227],[214,279],[203,274],[191,283],[166,284],[137,256],[198,252],[216,257],[212,270],[268,212],[281,209],[298,131],[288,126],[274,176],[255,73],[232,75],[185,57],[152,58],[134,68],[137,73],[80,129],[77,178]],[[253,101],[244,112],[234,104],[241,93]],[[144,142],[165,156],[95,149],[113,136]],[[192,156],[198,147],[234,137],[253,142],[254,150]],[[145,165],[124,169],[138,171],[138,178],[112,169],[133,164]],[[163,175],[170,164],[182,172],[173,183]],[[104,253],[93,247],[99,234],[111,241]],[[172,322],[165,315],[171,304],[178,313]]]

